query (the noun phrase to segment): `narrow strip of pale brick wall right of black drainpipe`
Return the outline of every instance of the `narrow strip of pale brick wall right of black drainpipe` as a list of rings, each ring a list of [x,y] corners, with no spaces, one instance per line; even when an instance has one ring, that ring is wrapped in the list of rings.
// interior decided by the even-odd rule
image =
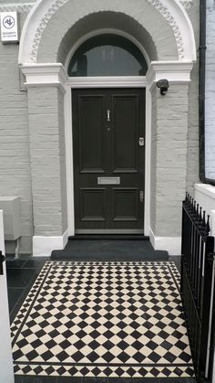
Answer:
[[[205,173],[215,179],[215,3],[207,1]]]

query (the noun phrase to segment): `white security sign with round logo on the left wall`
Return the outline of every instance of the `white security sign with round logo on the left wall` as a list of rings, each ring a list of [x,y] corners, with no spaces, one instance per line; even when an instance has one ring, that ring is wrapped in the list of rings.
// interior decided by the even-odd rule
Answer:
[[[17,12],[1,12],[1,38],[3,42],[18,41]]]

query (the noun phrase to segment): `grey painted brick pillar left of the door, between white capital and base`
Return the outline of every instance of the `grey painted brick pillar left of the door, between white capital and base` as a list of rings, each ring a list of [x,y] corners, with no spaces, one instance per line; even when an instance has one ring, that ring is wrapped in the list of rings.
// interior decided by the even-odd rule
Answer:
[[[27,94],[34,234],[59,236],[67,227],[63,96],[52,86]]]

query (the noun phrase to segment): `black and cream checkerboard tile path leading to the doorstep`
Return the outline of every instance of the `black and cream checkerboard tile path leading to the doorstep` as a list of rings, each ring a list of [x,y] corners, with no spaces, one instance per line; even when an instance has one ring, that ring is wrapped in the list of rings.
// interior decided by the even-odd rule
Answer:
[[[15,374],[194,376],[173,262],[48,261],[11,332]]]

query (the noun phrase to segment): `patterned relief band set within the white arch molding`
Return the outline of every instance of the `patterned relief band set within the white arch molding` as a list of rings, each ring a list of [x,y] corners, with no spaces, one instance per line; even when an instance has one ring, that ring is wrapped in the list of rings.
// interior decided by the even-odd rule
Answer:
[[[184,48],[183,48],[183,39],[180,33],[179,26],[174,18],[174,16],[171,15],[168,7],[162,3],[161,0],[147,0],[148,3],[152,6],[154,6],[159,13],[167,20],[169,23],[169,26],[172,28],[178,51],[179,51],[179,59],[184,58]],[[172,0],[173,1],[173,0]],[[183,3],[189,3],[192,0],[181,0]],[[40,21],[39,26],[36,29],[36,35],[34,37],[33,46],[31,50],[31,61],[36,62],[36,56],[37,56],[37,50],[39,48],[39,43],[41,40],[41,37],[43,35],[43,32],[46,28],[46,25],[48,24],[49,20],[56,14],[56,12],[61,8],[61,6],[65,5],[68,2],[68,0],[55,0],[53,4],[49,7],[48,11],[46,12],[46,15],[42,18]]]

